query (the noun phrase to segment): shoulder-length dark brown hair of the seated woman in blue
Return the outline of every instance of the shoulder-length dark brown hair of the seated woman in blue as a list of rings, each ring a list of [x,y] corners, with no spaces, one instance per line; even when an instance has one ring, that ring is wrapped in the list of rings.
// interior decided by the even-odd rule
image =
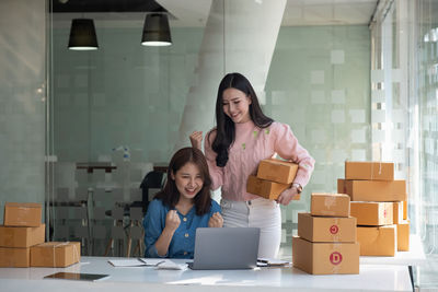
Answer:
[[[181,170],[188,162],[195,164],[199,172],[200,178],[203,179],[203,188],[195,196],[195,209],[196,214],[203,215],[210,211],[211,206],[211,197],[210,197],[210,173],[208,172],[207,161],[204,156],[204,153],[196,148],[183,148],[176,151],[171,159],[168,167],[168,180],[164,185],[164,188],[155,195],[155,199],[159,199],[163,202],[164,206],[170,209],[174,209],[176,203],[180,200],[180,191],[176,187],[175,180],[172,179],[172,173],[176,175],[176,172]]]

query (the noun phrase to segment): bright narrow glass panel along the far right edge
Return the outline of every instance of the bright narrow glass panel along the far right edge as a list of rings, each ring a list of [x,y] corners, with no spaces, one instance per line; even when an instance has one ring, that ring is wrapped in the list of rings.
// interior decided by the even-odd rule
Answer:
[[[418,135],[419,152],[419,213],[426,224],[422,224],[422,235],[427,252],[438,252],[438,3],[420,1],[418,11]]]

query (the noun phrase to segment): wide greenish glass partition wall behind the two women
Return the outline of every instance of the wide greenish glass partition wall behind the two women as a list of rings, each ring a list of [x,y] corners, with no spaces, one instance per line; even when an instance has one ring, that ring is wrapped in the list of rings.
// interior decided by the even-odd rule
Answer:
[[[316,160],[301,199],[281,207],[280,256],[289,257],[310,194],[336,192],[345,160],[374,159],[368,22],[376,3],[303,2],[186,1],[183,9],[169,0],[118,12],[53,4],[50,240],[81,241],[83,255],[142,255],[143,202],[165,175],[146,197],[143,177],[162,174],[192,131],[215,126],[219,81],[238,71],[264,113],[288,124]],[[154,12],[169,16],[170,46],[140,44]],[[73,19],[93,20],[96,50],[68,49]]]

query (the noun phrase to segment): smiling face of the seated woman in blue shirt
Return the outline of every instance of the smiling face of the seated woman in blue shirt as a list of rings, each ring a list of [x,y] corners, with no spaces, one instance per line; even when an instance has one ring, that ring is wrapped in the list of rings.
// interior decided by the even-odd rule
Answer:
[[[180,199],[193,200],[204,185],[199,168],[192,162],[184,164],[175,174],[172,173],[172,179],[181,194]]]

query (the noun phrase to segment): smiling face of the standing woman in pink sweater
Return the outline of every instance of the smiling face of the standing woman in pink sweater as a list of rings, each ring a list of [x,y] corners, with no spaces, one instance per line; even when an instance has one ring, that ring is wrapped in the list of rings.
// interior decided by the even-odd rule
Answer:
[[[231,118],[232,121],[240,124],[246,122],[250,117],[251,97],[244,92],[230,87],[223,91],[222,107],[223,113]]]

